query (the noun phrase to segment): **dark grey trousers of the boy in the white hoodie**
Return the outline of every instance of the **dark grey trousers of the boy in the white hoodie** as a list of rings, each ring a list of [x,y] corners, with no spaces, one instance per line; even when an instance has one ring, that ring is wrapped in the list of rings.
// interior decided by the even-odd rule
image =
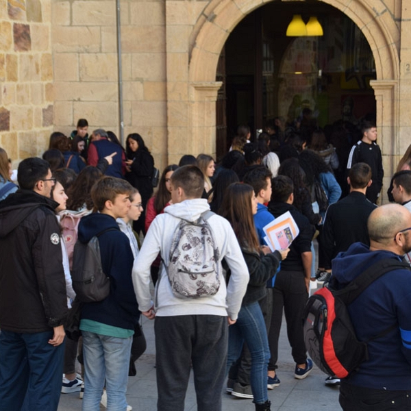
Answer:
[[[227,366],[227,317],[156,316],[154,330],[158,411],[184,411],[190,362],[197,410],[221,411]]]

